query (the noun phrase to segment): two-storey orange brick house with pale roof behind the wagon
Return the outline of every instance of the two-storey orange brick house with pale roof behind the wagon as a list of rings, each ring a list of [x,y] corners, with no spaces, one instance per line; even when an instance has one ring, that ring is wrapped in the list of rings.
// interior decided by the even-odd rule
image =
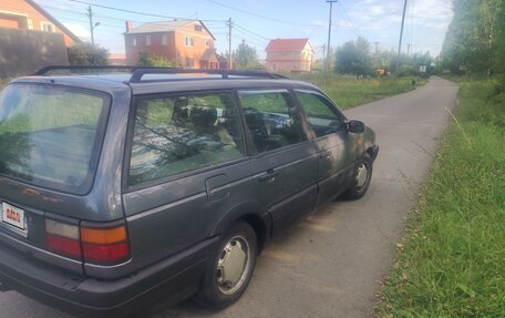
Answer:
[[[186,69],[218,69],[213,33],[199,20],[175,20],[141,24],[126,22],[126,63],[136,64],[141,53],[175,61]]]

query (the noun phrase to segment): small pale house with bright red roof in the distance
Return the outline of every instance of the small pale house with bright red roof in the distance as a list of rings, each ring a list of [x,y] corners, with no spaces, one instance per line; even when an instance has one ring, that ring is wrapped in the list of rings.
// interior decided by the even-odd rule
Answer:
[[[313,48],[309,39],[275,39],[267,49],[267,70],[308,72],[312,68]]]

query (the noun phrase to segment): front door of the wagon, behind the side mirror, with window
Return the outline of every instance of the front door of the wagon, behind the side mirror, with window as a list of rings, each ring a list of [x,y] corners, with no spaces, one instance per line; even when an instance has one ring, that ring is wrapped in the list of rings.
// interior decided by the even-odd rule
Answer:
[[[348,132],[346,117],[324,95],[311,90],[295,92],[316,135],[319,199],[333,199],[349,186],[354,173],[355,136]]]

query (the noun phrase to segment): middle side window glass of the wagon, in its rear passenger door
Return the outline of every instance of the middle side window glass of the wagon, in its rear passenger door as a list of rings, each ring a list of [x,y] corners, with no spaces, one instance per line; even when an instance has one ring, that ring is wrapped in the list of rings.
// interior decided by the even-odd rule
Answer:
[[[245,91],[239,98],[258,153],[307,141],[288,91]]]

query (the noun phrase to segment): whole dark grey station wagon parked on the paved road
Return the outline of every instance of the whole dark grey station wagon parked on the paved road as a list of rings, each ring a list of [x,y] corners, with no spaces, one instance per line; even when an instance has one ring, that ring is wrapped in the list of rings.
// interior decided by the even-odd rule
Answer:
[[[99,316],[193,295],[221,308],[272,236],[370,184],[374,133],[311,84],[80,69],[0,94],[1,289]]]

